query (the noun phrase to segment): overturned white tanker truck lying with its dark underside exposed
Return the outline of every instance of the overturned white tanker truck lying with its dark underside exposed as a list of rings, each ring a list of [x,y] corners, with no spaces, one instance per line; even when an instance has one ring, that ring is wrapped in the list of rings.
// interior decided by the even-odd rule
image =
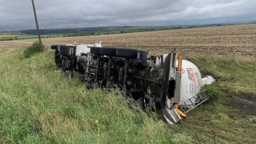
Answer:
[[[161,109],[169,124],[207,100],[198,68],[173,52],[161,57],[147,51],[93,45],[53,45],[55,63],[65,76],[79,72],[87,88],[119,87],[142,109]]]

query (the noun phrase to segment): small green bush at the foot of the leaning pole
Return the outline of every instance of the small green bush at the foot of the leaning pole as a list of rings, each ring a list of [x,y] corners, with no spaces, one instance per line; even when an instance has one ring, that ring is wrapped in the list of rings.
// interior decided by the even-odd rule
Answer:
[[[40,44],[38,41],[34,42],[32,46],[28,46],[26,50],[24,50],[23,56],[25,58],[31,57],[33,54],[37,54],[39,52],[43,52],[44,46],[40,48]]]

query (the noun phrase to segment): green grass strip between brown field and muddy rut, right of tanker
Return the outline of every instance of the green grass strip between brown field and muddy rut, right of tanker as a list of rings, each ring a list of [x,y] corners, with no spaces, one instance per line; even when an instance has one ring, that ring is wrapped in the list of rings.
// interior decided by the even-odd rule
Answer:
[[[187,57],[204,75],[213,75],[221,90],[256,98],[256,59],[253,57]],[[243,95],[242,95],[243,94]]]

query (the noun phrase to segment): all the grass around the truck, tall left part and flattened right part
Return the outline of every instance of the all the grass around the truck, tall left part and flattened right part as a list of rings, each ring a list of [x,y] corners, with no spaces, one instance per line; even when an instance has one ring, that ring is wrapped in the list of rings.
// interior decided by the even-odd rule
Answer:
[[[217,82],[207,87],[209,102],[188,113],[184,124],[169,126],[130,109],[118,91],[103,94],[86,90],[79,79],[63,79],[51,50],[21,55],[0,50],[0,143],[255,142],[252,115],[226,105],[233,94],[256,98],[254,59],[188,57]]]

